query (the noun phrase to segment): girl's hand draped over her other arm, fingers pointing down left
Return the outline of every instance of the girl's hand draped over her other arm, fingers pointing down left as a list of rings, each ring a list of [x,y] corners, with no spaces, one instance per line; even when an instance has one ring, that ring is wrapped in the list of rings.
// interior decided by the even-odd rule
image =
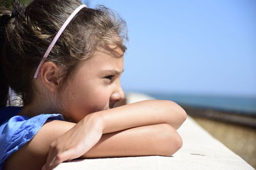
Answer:
[[[81,157],[88,152],[102,136],[102,122],[99,117],[87,115],[72,129],[51,143],[47,160],[42,169],[48,170],[65,160]]]

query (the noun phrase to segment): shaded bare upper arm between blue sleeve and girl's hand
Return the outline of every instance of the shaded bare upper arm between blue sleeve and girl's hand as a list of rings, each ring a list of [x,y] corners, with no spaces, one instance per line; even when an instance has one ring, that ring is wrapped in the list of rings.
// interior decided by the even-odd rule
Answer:
[[[45,163],[52,141],[74,125],[76,124],[60,120],[47,121],[28,143],[6,160],[4,168],[40,169]]]

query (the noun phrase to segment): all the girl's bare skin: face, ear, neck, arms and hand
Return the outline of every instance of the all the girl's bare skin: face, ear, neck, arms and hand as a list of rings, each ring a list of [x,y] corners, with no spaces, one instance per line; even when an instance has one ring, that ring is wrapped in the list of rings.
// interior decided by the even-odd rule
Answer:
[[[46,122],[4,169],[53,169],[76,158],[170,156],[179,150],[182,139],[176,130],[186,112],[178,104],[148,100],[114,107],[124,99],[124,53],[110,47],[112,52],[98,48],[91,59],[82,60],[60,94],[61,68],[44,63],[33,80],[33,102],[19,115],[61,113],[66,121]]]

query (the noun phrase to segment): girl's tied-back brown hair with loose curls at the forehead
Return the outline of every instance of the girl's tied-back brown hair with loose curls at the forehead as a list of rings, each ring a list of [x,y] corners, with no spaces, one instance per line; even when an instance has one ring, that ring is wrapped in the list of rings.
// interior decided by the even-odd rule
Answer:
[[[33,99],[33,74],[49,44],[78,0],[34,0],[26,6],[13,3],[13,12],[0,7],[0,108],[6,106],[9,87],[22,97]],[[115,36],[120,37],[116,40]],[[63,69],[62,84],[79,60],[92,57],[97,46],[117,45],[124,52],[124,20],[104,6],[83,8],[68,24],[46,61]]]

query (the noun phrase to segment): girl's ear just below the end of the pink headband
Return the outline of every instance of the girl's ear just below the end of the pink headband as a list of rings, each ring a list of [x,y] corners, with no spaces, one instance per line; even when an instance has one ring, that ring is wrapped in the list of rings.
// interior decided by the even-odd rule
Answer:
[[[60,83],[60,68],[53,62],[45,62],[40,70],[42,83],[51,92],[56,92]]]

